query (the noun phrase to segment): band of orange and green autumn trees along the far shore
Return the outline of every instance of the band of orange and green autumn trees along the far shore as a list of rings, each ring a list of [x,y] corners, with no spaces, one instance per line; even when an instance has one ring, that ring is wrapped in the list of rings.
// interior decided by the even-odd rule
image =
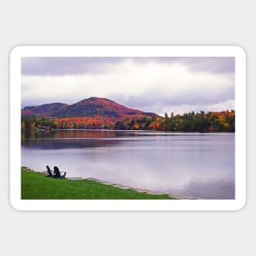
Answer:
[[[22,130],[52,129],[117,129],[155,130],[171,132],[235,132],[235,110],[222,112],[200,111],[163,117],[143,117],[141,119],[101,118],[38,118],[22,117]]]

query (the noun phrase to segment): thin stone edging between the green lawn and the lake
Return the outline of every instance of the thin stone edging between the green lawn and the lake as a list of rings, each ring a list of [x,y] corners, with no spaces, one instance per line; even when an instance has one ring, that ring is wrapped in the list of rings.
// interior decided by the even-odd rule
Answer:
[[[26,171],[33,172],[33,173],[46,174],[46,172],[38,172],[38,171],[32,170],[32,169],[30,169],[26,166],[21,166],[21,169],[24,169]],[[70,181],[70,182],[72,182],[72,181],[73,182],[83,181],[83,180],[91,181],[91,182],[97,182],[97,183],[100,183],[102,185],[114,186],[114,187],[117,187],[117,188],[122,189],[122,190],[132,190],[132,191],[137,191],[138,193],[146,193],[148,195],[168,195],[170,198],[175,198],[177,200],[199,200],[200,199],[200,198],[195,197],[195,196],[173,195],[173,194],[170,194],[168,192],[164,193],[164,192],[160,192],[160,191],[151,191],[149,189],[126,186],[126,185],[115,183],[115,182],[106,182],[106,181],[103,181],[103,180],[100,180],[100,179],[97,179],[97,178],[94,178],[94,177],[86,177],[86,178],[83,178],[83,177],[65,177],[65,179],[67,181]]]

